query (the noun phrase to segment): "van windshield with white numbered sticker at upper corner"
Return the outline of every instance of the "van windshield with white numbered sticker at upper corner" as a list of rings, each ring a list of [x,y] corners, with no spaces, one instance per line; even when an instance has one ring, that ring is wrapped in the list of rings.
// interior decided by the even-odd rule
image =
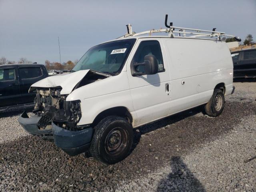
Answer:
[[[122,70],[135,40],[119,40],[94,46],[82,56],[73,71],[92,69],[116,75]]]

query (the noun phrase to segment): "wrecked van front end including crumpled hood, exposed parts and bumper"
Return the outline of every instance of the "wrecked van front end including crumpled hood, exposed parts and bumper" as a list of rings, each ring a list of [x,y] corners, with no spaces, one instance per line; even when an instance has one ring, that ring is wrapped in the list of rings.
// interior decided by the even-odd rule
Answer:
[[[18,122],[30,134],[54,140],[70,156],[85,152],[90,147],[93,129],[77,126],[82,117],[81,101],[66,99],[75,89],[108,77],[94,70],[80,70],[40,80],[29,90],[36,92],[34,116],[29,118],[23,112]]]

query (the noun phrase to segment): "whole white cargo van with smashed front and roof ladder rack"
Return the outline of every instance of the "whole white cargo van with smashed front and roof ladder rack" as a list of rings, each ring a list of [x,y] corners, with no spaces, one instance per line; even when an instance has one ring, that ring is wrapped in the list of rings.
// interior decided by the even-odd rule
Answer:
[[[166,26],[136,34],[127,25],[126,35],[90,48],[72,73],[32,84],[35,115],[24,112],[22,127],[71,156],[89,150],[113,164],[129,154],[132,128],[200,105],[219,116],[234,92],[231,54],[220,40],[230,35],[168,26],[167,17]]]

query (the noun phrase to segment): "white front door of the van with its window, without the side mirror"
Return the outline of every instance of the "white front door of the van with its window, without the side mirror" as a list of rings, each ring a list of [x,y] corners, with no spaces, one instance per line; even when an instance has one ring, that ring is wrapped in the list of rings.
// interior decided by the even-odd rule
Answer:
[[[136,126],[168,116],[170,113],[170,70],[163,58],[162,42],[154,38],[138,39],[128,59],[127,74],[134,110],[137,114]],[[132,76],[131,65],[144,62],[146,55],[153,54],[158,60],[158,73]],[[144,72],[144,66],[138,66]]]

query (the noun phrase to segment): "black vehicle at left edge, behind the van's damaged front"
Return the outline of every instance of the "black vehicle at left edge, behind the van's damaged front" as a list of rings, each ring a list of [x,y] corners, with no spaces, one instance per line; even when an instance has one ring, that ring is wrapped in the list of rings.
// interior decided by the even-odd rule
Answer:
[[[31,103],[36,96],[28,93],[30,86],[48,77],[42,64],[0,65],[0,107]]]

